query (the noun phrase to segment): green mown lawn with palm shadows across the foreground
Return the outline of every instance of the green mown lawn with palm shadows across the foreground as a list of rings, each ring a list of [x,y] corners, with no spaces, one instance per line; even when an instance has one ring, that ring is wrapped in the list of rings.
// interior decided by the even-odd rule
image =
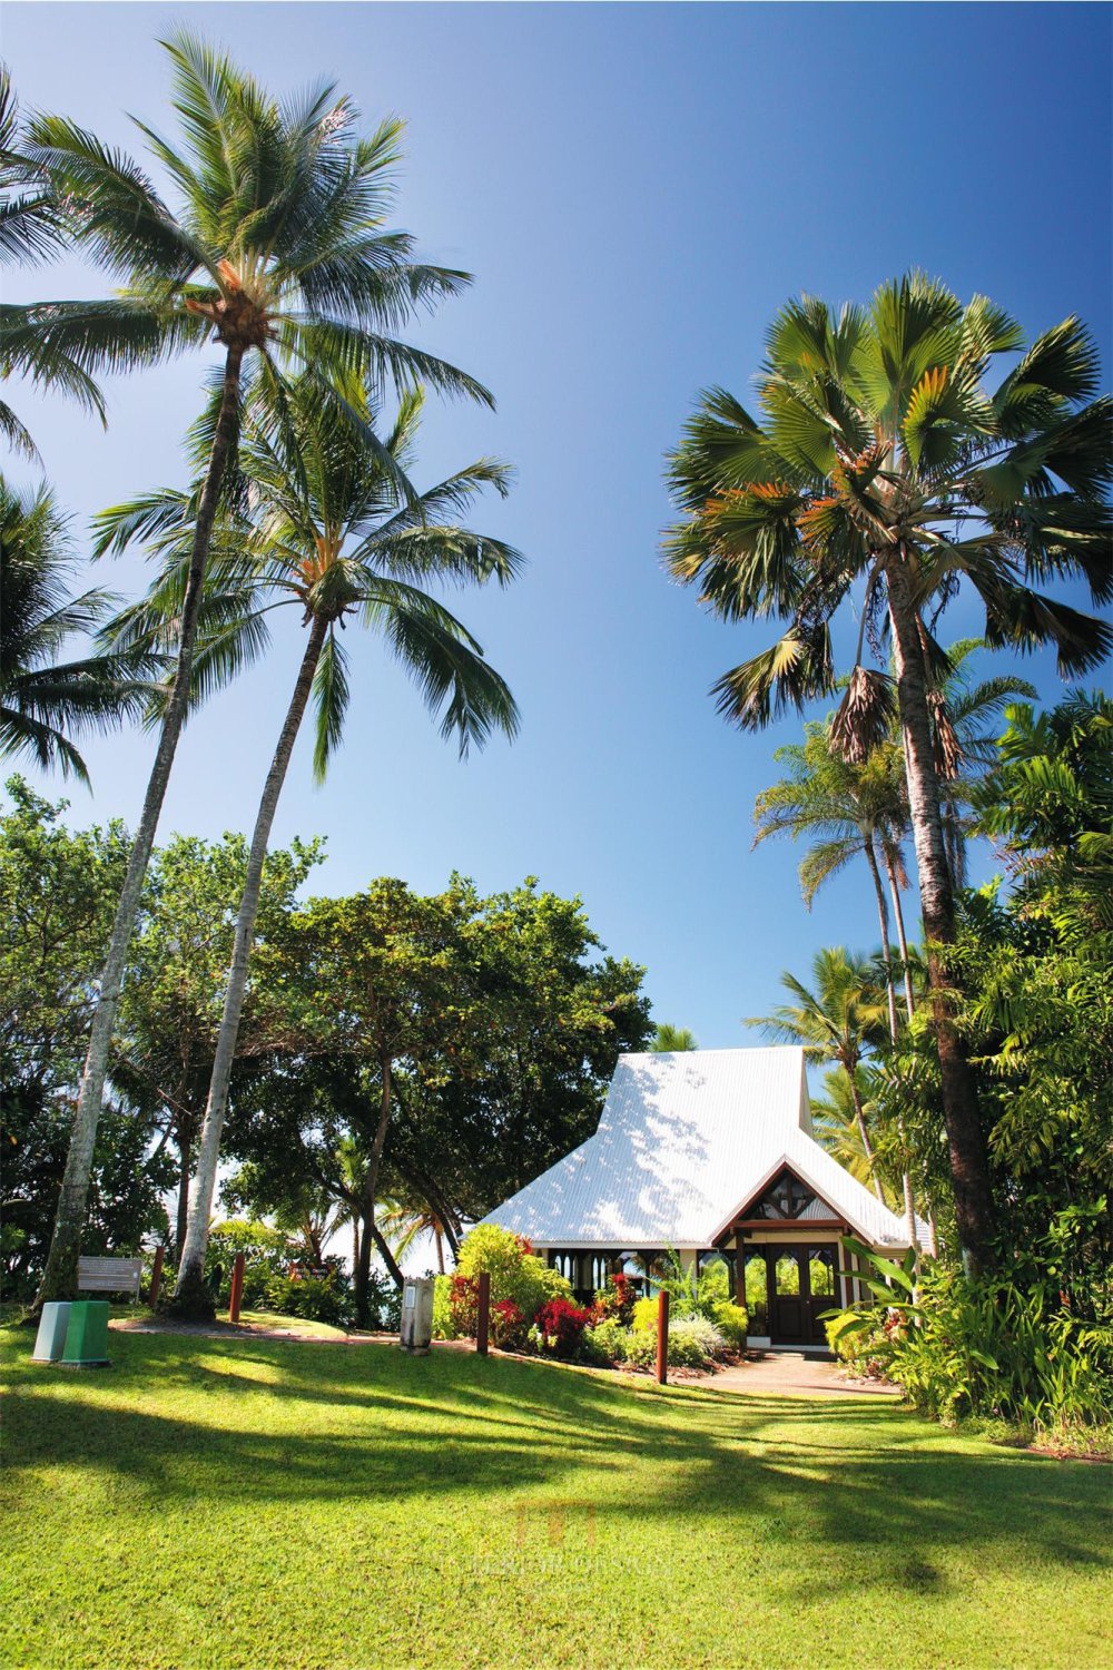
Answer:
[[[1098,1665],[1105,1466],[881,1399],[112,1334],[10,1368],[0,1663]],[[1108,1662],[1108,1660],[1106,1660]]]

